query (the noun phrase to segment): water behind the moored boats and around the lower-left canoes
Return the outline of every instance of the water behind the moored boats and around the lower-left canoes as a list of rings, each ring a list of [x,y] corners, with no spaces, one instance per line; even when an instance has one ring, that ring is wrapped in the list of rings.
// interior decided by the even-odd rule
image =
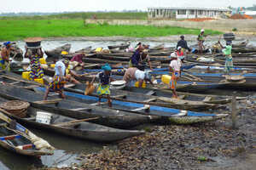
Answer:
[[[91,41],[43,41],[43,50],[50,50],[53,48],[60,47],[66,43],[71,43],[71,52],[79,50],[81,48],[86,48],[91,46],[92,48],[108,48],[108,45],[115,45],[121,42],[91,42]],[[161,42],[143,42],[154,47],[160,45]],[[214,42],[207,42],[207,44],[212,44]],[[256,46],[256,42],[250,42],[252,45]],[[18,46],[23,50],[25,47],[25,42],[17,42]],[[195,42],[189,42],[189,45],[195,44]],[[136,42],[131,42],[131,45],[135,46]],[[176,46],[176,42],[165,42],[166,47]],[[220,91],[220,94],[224,91]],[[230,92],[231,94],[231,92]],[[47,131],[32,131],[38,136],[46,139],[52,144],[56,149],[54,156],[42,156],[39,158],[32,158],[26,156],[19,156],[9,150],[4,150],[0,147],[0,170],[26,170],[30,169],[32,166],[35,167],[67,167],[72,163],[79,163],[76,160],[79,153],[91,153],[98,150],[102,150],[104,144],[96,144],[92,142],[87,142],[86,140],[70,138],[57,133],[50,133]]]

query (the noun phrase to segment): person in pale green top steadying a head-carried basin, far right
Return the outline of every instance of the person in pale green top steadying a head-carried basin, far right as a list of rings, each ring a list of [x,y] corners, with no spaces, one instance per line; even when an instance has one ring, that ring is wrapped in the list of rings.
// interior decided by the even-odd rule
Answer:
[[[223,48],[222,52],[225,57],[225,72],[230,73],[230,71],[233,69],[233,58],[232,58],[232,42],[227,41],[226,47],[223,47],[222,44],[218,41],[221,48]]]

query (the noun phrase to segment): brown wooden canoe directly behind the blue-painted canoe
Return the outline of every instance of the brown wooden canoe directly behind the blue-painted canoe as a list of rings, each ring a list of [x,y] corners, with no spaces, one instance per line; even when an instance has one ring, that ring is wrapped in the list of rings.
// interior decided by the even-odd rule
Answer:
[[[11,74],[11,76],[15,77],[0,77],[0,81],[10,84],[15,84],[20,88],[24,87],[31,87],[35,88],[37,83],[34,82],[19,82],[20,76]],[[68,85],[67,85],[68,86]],[[73,87],[65,88],[69,92],[74,92],[78,94],[84,94],[84,90],[86,85],[77,84]],[[121,101],[128,101],[128,102],[135,102],[144,105],[159,105],[164,107],[170,108],[177,108],[177,109],[184,109],[184,110],[207,110],[209,108],[217,107],[218,105],[224,105],[230,102],[230,97],[218,97],[218,96],[199,96],[195,94],[186,94],[186,93],[178,93],[179,99],[172,99],[172,93],[160,93],[160,90],[155,90],[158,95],[150,96],[145,94],[140,94],[139,96],[137,93],[127,92],[125,90],[113,89],[111,90],[111,97],[112,99],[117,99]],[[121,95],[120,95],[121,94]],[[93,96],[97,96],[96,90]]]

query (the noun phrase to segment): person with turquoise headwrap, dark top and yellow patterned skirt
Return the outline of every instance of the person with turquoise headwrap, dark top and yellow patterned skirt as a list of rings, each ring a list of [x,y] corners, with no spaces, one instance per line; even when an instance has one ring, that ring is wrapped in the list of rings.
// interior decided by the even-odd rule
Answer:
[[[110,99],[110,90],[109,90],[109,83],[113,82],[113,78],[111,77],[111,67],[110,65],[106,64],[102,66],[102,72],[98,73],[96,77],[90,82],[93,84],[96,78],[100,80],[100,84],[97,88],[97,94],[99,95],[98,105],[101,105],[102,96],[105,94],[108,98],[108,105],[112,107],[112,101]]]

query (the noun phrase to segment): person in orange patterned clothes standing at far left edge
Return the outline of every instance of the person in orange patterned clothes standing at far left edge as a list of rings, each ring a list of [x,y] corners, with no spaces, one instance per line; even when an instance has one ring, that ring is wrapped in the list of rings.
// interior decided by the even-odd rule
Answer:
[[[4,42],[3,45],[4,47],[2,48],[0,54],[0,68],[3,71],[7,71],[9,70],[9,62],[11,61],[11,59],[9,59],[9,55],[13,48],[11,48],[11,42]]]

